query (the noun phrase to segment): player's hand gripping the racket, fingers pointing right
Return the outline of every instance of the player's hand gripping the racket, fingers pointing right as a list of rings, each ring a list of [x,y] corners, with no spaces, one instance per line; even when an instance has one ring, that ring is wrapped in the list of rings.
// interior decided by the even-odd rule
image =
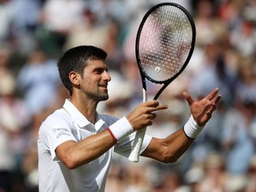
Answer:
[[[126,118],[132,124],[133,130],[139,130],[153,124],[156,114],[152,112],[166,108],[167,105],[159,105],[157,100],[148,100],[138,105]]]

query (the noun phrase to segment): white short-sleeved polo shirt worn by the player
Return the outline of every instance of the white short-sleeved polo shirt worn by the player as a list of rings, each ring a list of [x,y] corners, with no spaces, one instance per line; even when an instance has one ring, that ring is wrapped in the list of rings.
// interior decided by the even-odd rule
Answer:
[[[131,126],[125,117],[118,120],[114,116],[100,114],[97,114],[97,123],[91,124],[69,100],[65,101],[63,108],[48,116],[39,129],[37,141],[39,191],[104,191],[113,152],[128,157],[132,149],[134,132],[120,140],[115,148],[110,148],[99,158],[73,170],[69,170],[65,164],[60,162],[55,149],[67,140],[79,141],[97,132],[102,132],[110,125],[115,126],[116,121],[118,124]],[[144,138],[140,152],[147,148],[150,140],[149,136]]]

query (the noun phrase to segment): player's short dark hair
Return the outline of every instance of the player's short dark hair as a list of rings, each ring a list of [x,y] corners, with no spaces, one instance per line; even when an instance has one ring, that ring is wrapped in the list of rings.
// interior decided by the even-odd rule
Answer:
[[[69,49],[58,61],[60,79],[72,95],[73,87],[68,74],[76,71],[83,76],[84,68],[89,60],[106,60],[107,52],[92,45],[81,45]]]

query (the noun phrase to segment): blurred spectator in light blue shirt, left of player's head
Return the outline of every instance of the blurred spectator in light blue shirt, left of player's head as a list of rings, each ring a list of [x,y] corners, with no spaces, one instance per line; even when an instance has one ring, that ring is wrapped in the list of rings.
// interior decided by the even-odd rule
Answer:
[[[31,53],[18,74],[18,85],[31,116],[52,104],[59,83],[56,61],[48,59],[42,51]]]

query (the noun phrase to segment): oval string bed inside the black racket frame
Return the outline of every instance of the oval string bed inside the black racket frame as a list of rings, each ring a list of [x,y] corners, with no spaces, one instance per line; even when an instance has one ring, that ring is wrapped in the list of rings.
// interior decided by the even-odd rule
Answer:
[[[187,59],[191,41],[192,29],[185,12],[174,6],[159,7],[141,30],[141,67],[156,81],[170,79]]]

